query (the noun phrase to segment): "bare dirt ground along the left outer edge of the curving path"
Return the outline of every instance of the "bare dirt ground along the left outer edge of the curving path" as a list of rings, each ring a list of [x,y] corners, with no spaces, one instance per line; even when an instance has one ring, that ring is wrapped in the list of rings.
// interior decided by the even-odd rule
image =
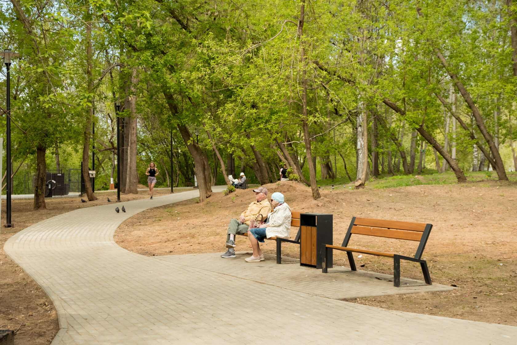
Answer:
[[[144,188],[144,186],[140,186]],[[183,189],[185,190],[185,189]],[[169,194],[169,189],[156,189],[155,196]],[[0,329],[17,330],[14,343],[19,345],[50,344],[59,330],[57,312],[36,282],[23,269],[13,263],[4,252],[4,245],[15,233],[44,219],[57,216],[79,207],[108,203],[116,200],[116,191],[97,192],[98,200],[82,203],[80,198],[45,199],[47,210],[33,211],[33,199],[13,199],[11,221],[14,228],[4,228],[6,201],[2,201],[0,224]],[[149,198],[149,191],[139,194],[121,194],[121,201]]]

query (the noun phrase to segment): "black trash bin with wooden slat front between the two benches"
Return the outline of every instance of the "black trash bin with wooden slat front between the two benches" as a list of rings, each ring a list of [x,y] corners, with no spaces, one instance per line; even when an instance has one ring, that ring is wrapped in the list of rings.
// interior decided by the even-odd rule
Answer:
[[[329,214],[300,214],[300,266],[323,268],[323,248],[332,244],[332,220]],[[332,267],[332,258],[327,267]]]

